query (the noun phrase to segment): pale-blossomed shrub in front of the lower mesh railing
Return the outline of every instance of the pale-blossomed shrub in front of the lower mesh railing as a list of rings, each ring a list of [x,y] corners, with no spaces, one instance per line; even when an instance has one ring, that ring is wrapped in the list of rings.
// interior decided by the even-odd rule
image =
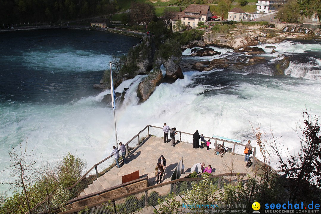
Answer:
[[[184,192],[183,200],[189,205],[211,205],[215,203],[215,185],[208,179],[208,175],[202,175],[203,180],[192,184],[192,189]],[[195,206],[191,206],[195,210]],[[200,209],[197,209],[200,210]]]

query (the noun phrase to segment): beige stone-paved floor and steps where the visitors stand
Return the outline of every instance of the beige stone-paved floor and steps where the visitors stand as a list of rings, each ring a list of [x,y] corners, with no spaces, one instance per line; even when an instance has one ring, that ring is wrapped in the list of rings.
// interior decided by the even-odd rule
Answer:
[[[192,144],[180,142],[175,147],[171,143],[164,143],[159,137],[150,137],[147,141],[140,145],[126,160],[126,165],[120,164],[120,168],[113,167],[98,180],[90,184],[84,189],[81,195],[94,193],[103,189],[121,184],[121,176],[133,173],[139,170],[140,175],[148,174],[148,186],[156,184],[155,167],[160,155],[166,158],[166,170],[163,181],[170,181],[170,176],[178,161],[184,156],[183,164],[185,165],[185,173],[189,174],[190,168],[199,162],[205,162],[205,166],[211,165],[215,172],[213,175],[222,173],[250,173],[252,168],[246,168],[244,156],[232,155],[226,153],[222,158],[216,155],[216,152],[204,149],[193,149]],[[231,167],[232,166],[232,167]],[[185,175],[182,175],[184,177]]]

